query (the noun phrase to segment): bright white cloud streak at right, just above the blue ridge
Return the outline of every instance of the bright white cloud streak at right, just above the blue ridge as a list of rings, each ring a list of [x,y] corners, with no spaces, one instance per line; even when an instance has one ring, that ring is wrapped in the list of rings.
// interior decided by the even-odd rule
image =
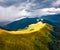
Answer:
[[[60,13],[60,8],[43,8],[32,12],[32,16],[54,15]]]

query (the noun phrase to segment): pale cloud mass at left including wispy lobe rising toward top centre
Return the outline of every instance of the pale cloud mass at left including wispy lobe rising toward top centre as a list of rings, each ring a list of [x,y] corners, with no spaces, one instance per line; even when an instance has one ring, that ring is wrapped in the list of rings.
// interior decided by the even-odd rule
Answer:
[[[34,5],[33,3],[24,2],[19,7],[15,7],[14,5],[10,7],[0,6],[0,21],[13,21],[16,18],[30,16],[31,12],[27,10]]]

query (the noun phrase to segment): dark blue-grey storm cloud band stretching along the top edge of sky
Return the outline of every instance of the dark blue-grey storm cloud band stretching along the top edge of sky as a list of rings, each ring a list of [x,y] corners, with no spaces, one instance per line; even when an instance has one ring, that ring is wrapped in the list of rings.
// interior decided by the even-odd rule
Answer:
[[[0,0],[0,6],[4,6],[4,7],[8,7],[12,5],[19,6],[23,2],[33,2],[36,5],[31,7],[33,7],[33,9],[38,9],[38,8],[52,7],[52,3],[56,1],[57,0]]]

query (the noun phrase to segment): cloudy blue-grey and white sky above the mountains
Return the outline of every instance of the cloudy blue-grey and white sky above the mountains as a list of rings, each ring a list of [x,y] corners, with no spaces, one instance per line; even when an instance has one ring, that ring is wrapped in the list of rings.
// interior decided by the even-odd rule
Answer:
[[[0,0],[0,22],[60,14],[60,0]]]

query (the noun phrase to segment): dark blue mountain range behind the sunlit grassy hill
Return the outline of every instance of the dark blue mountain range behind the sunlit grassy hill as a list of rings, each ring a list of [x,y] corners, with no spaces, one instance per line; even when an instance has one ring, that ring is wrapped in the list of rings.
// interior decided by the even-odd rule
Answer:
[[[49,23],[55,27],[60,27],[60,15],[57,14],[57,15],[48,15],[48,16],[34,17],[34,18],[23,18],[21,20],[17,20],[5,25],[4,28],[9,30],[23,29],[30,24],[37,23],[38,21]]]

